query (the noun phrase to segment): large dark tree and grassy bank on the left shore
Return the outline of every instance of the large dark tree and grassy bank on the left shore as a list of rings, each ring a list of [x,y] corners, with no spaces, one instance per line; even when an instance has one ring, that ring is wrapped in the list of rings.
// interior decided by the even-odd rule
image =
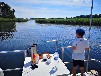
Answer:
[[[26,22],[28,19],[24,18],[16,18],[15,10],[11,9],[11,7],[4,3],[0,2],[0,22]]]

